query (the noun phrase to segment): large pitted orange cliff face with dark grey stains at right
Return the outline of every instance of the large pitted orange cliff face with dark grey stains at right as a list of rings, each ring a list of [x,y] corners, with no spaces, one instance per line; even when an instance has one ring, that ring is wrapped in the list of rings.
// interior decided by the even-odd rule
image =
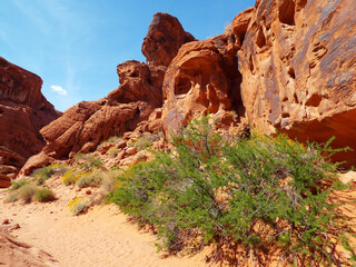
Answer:
[[[354,10],[353,0],[257,1],[238,52],[250,123],[300,141],[335,136],[335,147],[355,150],[336,158],[348,165],[356,165]]]

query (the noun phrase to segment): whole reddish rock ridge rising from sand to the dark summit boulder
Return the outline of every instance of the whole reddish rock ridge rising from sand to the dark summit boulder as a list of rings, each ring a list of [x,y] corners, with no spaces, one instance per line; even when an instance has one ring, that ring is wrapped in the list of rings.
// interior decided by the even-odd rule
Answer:
[[[155,14],[142,44],[147,65],[135,60],[119,65],[120,86],[117,89],[98,101],[76,105],[46,126],[40,132],[47,145],[41,154],[27,162],[21,174],[28,175],[55,159],[92,151],[102,140],[122,136],[137,127],[157,130],[160,123],[148,119],[155,109],[162,106],[167,66],[180,46],[190,40],[195,39],[182,29],[177,18],[167,13]]]

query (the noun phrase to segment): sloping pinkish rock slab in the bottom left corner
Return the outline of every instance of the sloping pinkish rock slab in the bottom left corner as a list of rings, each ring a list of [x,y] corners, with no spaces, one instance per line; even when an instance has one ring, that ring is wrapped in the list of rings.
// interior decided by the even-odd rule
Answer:
[[[48,253],[17,240],[0,228],[0,265],[17,267],[55,267],[59,266]]]

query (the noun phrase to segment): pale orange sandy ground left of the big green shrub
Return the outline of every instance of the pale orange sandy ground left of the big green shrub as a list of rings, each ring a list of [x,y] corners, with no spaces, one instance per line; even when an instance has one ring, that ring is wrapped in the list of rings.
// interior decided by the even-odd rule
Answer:
[[[56,189],[55,189],[56,190]],[[20,228],[11,235],[53,256],[62,267],[80,266],[206,266],[205,255],[164,257],[157,254],[155,236],[138,230],[115,205],[96,206],[87,214],[72,216],[68,200],[73,189],[58,189],[52,204],[3,204],[0,190],[0,224],[4,219]]]

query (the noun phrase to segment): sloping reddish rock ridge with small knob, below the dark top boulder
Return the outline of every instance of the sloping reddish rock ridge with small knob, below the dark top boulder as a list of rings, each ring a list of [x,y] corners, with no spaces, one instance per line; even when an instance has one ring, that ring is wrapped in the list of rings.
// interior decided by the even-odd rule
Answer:
[[[160,71],[134,60],[119,65],[119,88],[103,99],[69,108],[41,130],[47,141],[43,152],[56,159],[71,157],[93,150],[110,136],[134,130],[161,106],[161,82],[151,79]]]

